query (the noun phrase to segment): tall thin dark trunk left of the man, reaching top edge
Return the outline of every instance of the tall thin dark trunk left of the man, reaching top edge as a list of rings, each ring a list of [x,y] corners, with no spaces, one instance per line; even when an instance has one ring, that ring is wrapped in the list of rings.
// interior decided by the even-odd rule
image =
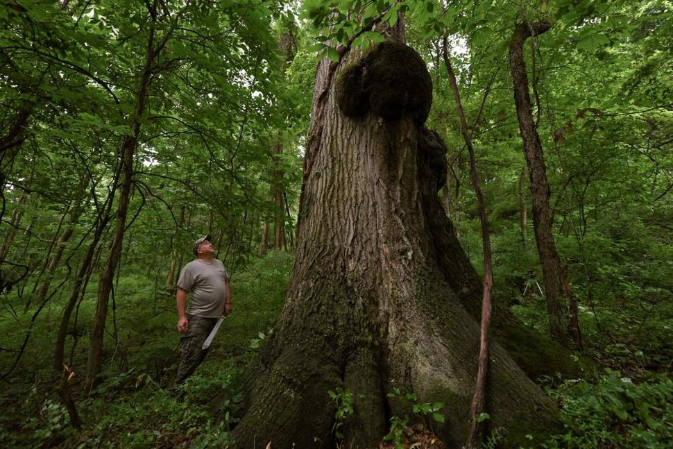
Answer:
[[[105,329],[105,318],[108,315],[108,300],[110,299],[110,290],[114,280],[114,271],[121,259],[121,249],[123,243],[124,230],[126,227],[126,214],[128,212],[128,203],[130,200],[131,184],[133,181],[133,154],[140,134],[141,118],[145,110],[145,101],[147,98],[147,89],[151,80],[151,71],[154,58],[160,48],[154,48],[154,33],[156,19],[156,1],[153,6],[153,21],[151,22],[147,40],[147,53],[145,65],[142,70],[140,84],[133,114],[133,133],[123,139],[121,145],[121,156],[123,158],[123,179],[121,190],[119,192],[119,205],[117,206],[117,224],[112,238],[112,247],[110,256],[105,264],[105,269],[99,280],[99,294],[96,302],[96,314],[89,340],[89,355],[87,359],[87,385],[92,388],[97,382],[101,367],[103,364],[103,330]],[[165,43],[165,39],[164,39]],[[161,47],[161,46],[160,46]]]

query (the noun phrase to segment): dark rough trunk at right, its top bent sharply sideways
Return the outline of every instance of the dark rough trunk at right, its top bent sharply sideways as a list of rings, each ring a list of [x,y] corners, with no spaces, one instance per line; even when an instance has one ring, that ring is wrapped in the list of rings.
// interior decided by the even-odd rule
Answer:
[[[545,298],[549,316],[550,334],[559,343],[570,346],[568,338],[568,304],[563,294],[563,271],[554,244],[550,214],[550,186],[540,136],[536,130],[528,88],[528,74],[523,47],[531,35],[539,35],[551,28],[549,22],[518,24],[509,44],[509,65],[514,85],[514,103],[519,130],[524,143],[526,162],[531,181],[533,224],[535,239],[545,280]]]

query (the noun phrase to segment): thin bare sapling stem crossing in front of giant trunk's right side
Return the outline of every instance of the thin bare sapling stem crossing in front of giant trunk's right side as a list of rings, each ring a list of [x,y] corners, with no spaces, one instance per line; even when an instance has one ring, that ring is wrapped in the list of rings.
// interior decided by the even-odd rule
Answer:
[[[482,223],[482,245],[484,250],[484,291],[482,295],[482,320],[479,327],[479,369],[477,371],[477,384],[475,385],[475,395],[472,397],[470,407],[470,434],[468,435],[466,446],[468,448],[479,448],[482,445],[484,434],[482,425],[479,425],[479,416],[484,412],[484,403],[486,403],[486,375],[488,374],[488,330],[491,326],[491,293],[493,292],[493,267],[491,266],[491,236],[488,231],[488,217],[486,216],[486,203],[484,194],[479,183],[479,171],[477,171],[477,160],[475,158],[475,149],[472,146],[472,137],[468,132],[468,124],[463,112],[460,92],[456,75],[454,74],[451,61],[448,56],[448,43],[446,35],[443,39],[442,53],[444,65],[449,76],[454,99],[456,101],[456,110],[461,124],[461,134],[470,154],[470,176],[472,176],[472,187],[477,195],[477,207],[479,208],[479,221]]]

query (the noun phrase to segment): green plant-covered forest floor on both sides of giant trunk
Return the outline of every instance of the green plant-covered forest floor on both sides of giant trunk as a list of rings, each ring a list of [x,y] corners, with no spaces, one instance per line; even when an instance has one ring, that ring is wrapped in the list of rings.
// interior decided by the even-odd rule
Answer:
[[[94,307],[92,298],[87,298],[73,328],[78,343],[69,362],[75,373],[70,390],[82,430],[69,425],[55,391],[60,376],[51,359],[61,309],[51,304],[62,302],[57,295],[40,312],[19,364],[2,381],[0,447],[226,446],[237,421],[241,374],[282,308],[292,262],[291,255],[270,253],[252,260],[245,271],[232,273],[233,312],[205,362],[180,387],[173,386],[176,363],[165,366],[179,341],[174,297],[166,289],[147,285],[146,273],[137,273],[122,276],[115,288],[114,321],[105,335],[105,381],[87,394],[86,334]],[[89,291],[95,292],[96,286],[90,285]],[[10,306],[7,303],[0,314],[2,374],[12,367],[16,348],[26,337],[17,329],[27,329],[35,313],[14,312]],[[536,298],[513,309],[527,323],[543,327],[544,309]],[[567,430],[550,436],[547,447],[670,447],[673,381],[670,341],[665,337],[670,323],[661,321],[658,332],[647,332],[639,341],[622,341],[613,334],[612,343],[599,345],[593,344],[600,331],[592,319],[595,312],[584,311],[583,326],[588,352],[604,373],[590,380],[538,380],[562,407]],[[612,316],[605,310],[600,313]],[[617,319],[617,312],[613,314]],[[492,446],[497,443],[497,432],[489,441]]]

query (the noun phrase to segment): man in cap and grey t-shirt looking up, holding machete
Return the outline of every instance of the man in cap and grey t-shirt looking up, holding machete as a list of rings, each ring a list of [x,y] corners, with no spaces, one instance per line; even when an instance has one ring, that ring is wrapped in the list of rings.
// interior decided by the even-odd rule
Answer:
[[[207,349],[203,342],[214,328],[217,319],[231,313],[231,290],[229,276],[224,265],[213,258],[215,248],[210,235],[194,242],[196,259],[180,271],[178,279],[178,332],[180,332],[180,366],[176,384],[185,382],[196,367],[203,362]],[[191,291],[189,307],[187,293]]]

